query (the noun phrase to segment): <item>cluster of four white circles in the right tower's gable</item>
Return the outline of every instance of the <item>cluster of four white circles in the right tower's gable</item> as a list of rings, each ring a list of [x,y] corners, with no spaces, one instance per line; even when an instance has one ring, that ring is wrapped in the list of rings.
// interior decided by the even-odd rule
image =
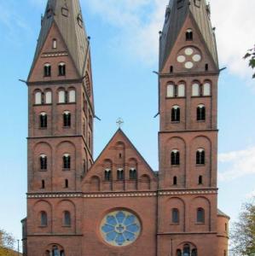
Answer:
[[[202,56],[198,49],[194,47],[187,47],[182,49],[177,55],[177,61],[183,63],[187,69],[191,69],[194,65],[202,60]]]

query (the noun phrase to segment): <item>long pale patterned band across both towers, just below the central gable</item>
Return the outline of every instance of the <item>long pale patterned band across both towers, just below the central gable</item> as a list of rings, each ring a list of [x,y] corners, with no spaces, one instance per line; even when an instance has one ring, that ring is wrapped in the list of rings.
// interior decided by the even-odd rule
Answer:
[[[217,189],[180,190],[180,191],[154,191],[154,192],[129,192],[129,193],[32,193],[27,198],[118,198],[118,197],[154,197],[164,195],[213,195]]]

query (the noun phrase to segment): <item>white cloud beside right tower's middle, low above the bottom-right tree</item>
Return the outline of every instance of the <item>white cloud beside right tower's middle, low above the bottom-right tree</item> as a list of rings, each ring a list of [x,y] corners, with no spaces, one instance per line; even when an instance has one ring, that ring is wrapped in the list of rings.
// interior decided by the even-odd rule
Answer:
[[[238,177],[255,176],[255,147],[219,154],[219,179],[233,180]]]

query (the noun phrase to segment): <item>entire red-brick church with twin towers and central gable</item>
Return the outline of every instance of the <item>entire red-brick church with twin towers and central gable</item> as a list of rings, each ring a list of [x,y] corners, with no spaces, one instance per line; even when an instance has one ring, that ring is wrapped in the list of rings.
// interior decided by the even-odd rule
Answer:
[[[228,255],[229,217],[217,208],[220,69],[210,16],[206,0],[166,7],[155,172],[121,129],[94,159],[90,38],[78,0],[48,0],[26,81],[24,255]]]

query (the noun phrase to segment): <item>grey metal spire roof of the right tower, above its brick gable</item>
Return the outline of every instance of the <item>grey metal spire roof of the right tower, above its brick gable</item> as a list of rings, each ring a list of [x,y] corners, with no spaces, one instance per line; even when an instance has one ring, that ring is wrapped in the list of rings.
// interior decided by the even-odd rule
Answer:
[[[217,45],[210,20],[210,5],[206,3],[206,0],[170,0],[165,12],[165,25],[160,36],[160,70],[171,54],[171,49],[188,15],[194,19],[206,47],[212,55],[212,60],[216,67],[218,66]]]

